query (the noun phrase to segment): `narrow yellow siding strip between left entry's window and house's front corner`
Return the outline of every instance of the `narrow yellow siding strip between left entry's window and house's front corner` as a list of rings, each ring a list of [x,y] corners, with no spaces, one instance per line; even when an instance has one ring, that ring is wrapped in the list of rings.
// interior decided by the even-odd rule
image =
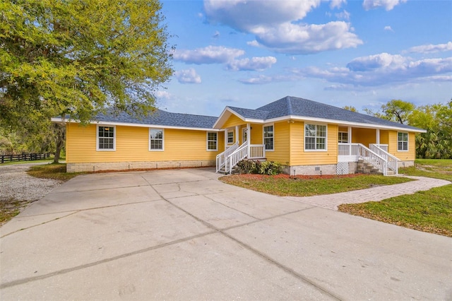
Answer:
[[[273,149],[266,151],[267,160],[281,164],[290,160],[290,124],[287,121],[273,124]]]

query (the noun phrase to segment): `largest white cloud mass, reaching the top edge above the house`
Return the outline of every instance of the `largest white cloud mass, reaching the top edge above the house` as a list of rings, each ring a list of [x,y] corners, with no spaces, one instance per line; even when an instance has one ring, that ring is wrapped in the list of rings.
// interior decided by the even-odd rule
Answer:
[[[338,7],[344,1],[333,1]],[[285,54],[311,54],[328,50],[357,47],[362,44],[350,24],[299,23],[307,13],[321,4],[321,0],[304,1],[240,1],[205,0],[206,17],[211,23],[228,25],[255,35],[259,45]],[[344,11],[341,18],[349,18]]]

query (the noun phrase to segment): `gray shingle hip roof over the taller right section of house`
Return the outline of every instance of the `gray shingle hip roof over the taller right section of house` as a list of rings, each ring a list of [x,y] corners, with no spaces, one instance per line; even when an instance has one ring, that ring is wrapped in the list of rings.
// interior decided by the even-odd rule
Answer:
[[[307,100],[304,98],[295,98],[286,96],[280,100],[270,102],[268,105],[258,107],[256,110],[229,107],[234,112],[241,114],[249,119],[268,120],[285,116],[311,117],[319,119],[331,119],[341,122],[356,122],[360,124],[374,124],[381,126],[395,126],[403,129],[417,129],[414,126],[391,122],[386,119],[380,119],[367,114],[352,112],[349,110],[326,105],[321,102]]]

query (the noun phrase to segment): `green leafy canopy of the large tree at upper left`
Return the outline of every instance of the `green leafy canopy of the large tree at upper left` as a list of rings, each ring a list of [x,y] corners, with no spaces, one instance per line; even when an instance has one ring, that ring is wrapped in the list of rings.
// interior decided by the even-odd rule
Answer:
[[[154,108],[172,75],[158,0],[0,1],[0,126]]]

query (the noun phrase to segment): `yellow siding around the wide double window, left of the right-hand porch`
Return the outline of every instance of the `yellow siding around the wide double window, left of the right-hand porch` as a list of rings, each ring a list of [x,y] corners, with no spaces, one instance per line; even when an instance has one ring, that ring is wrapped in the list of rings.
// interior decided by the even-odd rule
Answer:
[[[304,151],[304,123],[290,124],[290,165],[323,165],[338,162],[338,126],[328,124],[327,151]],[[282,162],[284,164],[284,162]]]

